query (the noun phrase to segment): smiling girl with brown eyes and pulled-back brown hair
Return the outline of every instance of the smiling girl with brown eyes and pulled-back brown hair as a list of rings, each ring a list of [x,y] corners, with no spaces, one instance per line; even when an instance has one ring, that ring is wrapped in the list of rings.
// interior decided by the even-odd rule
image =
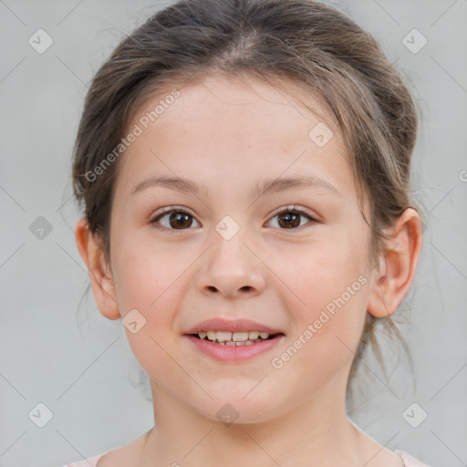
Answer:
[[[375,39],[311,0],[180,0],[89,89],[76,227],[154,427],[70,466],[423,466],[348,420],[410,289],[416,104]]]

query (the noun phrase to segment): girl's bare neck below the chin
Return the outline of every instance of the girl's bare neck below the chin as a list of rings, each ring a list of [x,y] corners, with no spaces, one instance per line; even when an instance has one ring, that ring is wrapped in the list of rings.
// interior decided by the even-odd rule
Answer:
[[[347,418],[342,394],[314,394],[273,419],[230,425],[192,410],[159,386],[152,386],[152,397],[157,424],[148,433],[141,467],[360,462],[358,430]]]

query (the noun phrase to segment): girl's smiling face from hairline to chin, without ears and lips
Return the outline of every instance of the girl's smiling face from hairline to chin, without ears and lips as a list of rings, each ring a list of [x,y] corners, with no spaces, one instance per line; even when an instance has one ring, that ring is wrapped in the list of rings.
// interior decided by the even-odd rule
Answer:
[[[237,422],[344,403],[371,271],[339,134],[323,144],[315,113],[253,78],[179,90],[147,129],[141,118],[163,96],[130,122],[142,132],[120,161],[111,212],[119,312],[125,322],[137,310],[137,332],[125,332],[153,392],[213,420],[229,403]],[[178,182],[143,183],[155,177]],[[215,317],[284,336],[255,357],[220,361],[185,335]]]

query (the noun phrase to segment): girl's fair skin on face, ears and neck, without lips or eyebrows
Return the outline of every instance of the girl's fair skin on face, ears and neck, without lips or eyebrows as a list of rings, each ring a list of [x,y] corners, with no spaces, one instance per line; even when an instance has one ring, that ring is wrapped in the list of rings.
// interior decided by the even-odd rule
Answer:
[[[345,392],[366,313],[392,314],[410,288],[421,247],[418,213],[407,209],[387,231],[379,262],[370,261],[368,225],[337,131],[318,147],[308,132],[322,120],[293,92],[254,78],[204,78],[180,90],[120,161],[109,263],[87,223],[76,227],[102,315],[119,319],[136,308],[146,319],[136,334],[125,332],[150,377],[156,420],[147,439],[110,451],[99,467],[402,465],[348,420]],[[129,128],[160,99],[146,102]],[[130,194],[161,174],[205,190],[159,186]],[[332,183],[340,195],[317,187],[249,195],[256,182],[304,174]],[[294,204],[316,222],[302,216],[299,227],[279,223],[277,211]],[[170,214],[160,222],[171,230],[150,223],[170,206],[191,214],[191,226],[174,228]],[[225,215],[240,227],[230,240],[215,230]],[[361,275],[366,284],[274,368],[272,358]],[[182,337],[209,317],[249,317],[281,329],[285,341],[248,362],[220,363]],[[238,412],[229,426],[216,415],[226,403]]]

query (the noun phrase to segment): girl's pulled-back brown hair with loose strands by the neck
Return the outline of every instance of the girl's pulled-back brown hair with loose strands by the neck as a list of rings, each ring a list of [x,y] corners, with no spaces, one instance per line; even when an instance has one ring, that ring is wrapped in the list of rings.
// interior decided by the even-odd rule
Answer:
[[[95,180],[87,174],[95,173],[119,145],[135,111],[150,96],[176,83],[221,73],[274,81],[285,92],[286,83],[294,82],[305,91],[305,106],[310,95],[325,104],[345,142],[360,209],[368,200],[369,252],[378,261],[382,229],[410,206],[416,102],[373,36],[337,9],[312,0],[180,0],[151,16],[114,49],[86,96],[73,165],[74,194],[106,260],[121,157]],[[336,130],[333,123],[327,125]],[[380,357],[377,321],[400,337],[390,317],[367,313],[349,381],[368,342]]]

